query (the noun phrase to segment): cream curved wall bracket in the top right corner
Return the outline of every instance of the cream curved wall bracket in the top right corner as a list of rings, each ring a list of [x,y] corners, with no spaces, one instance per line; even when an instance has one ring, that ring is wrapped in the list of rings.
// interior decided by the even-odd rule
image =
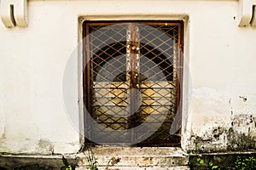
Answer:
[[[256,0],[239,0],[238,17],[238,26],[256,26]]]

